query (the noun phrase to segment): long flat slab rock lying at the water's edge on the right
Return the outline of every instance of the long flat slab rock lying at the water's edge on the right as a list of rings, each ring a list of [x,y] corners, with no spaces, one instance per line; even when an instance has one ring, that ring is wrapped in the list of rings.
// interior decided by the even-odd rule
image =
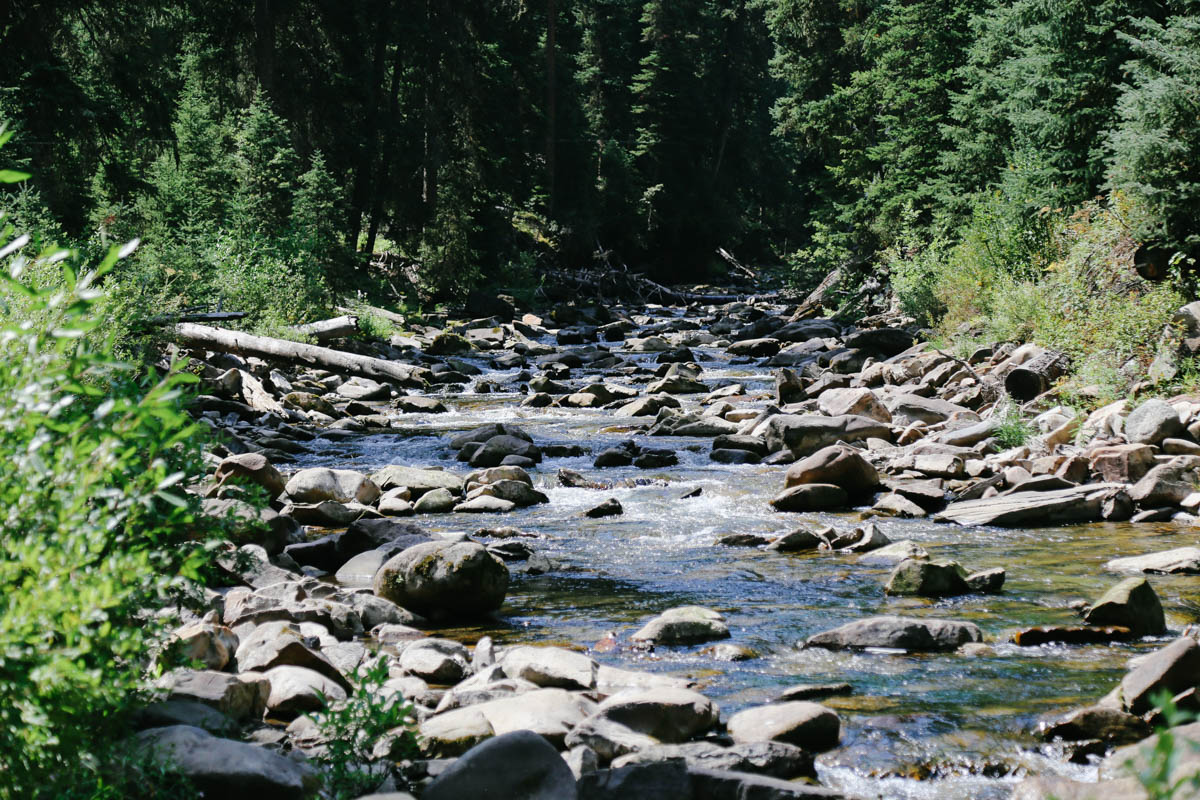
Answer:
[[[984,500],[952,503],[935,517],[960,525],[1016,528],[1067,522],[1097,522],[1110,492],[1121,483],[1088,483],[1055,492],[1015,492]]]

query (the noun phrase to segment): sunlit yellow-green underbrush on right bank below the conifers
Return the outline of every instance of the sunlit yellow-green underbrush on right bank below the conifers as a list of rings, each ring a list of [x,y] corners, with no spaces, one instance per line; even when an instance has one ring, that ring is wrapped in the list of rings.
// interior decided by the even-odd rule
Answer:
[[[884,251],[901,308],[949,341],[1060,350],[1072,360],[1068,391],[1123,397],[1187,302],[1177,282],[1133,270],[1138,210],[1118,194],[1070,213],[1004,206],[977,210],[954,242],[907,233]]]

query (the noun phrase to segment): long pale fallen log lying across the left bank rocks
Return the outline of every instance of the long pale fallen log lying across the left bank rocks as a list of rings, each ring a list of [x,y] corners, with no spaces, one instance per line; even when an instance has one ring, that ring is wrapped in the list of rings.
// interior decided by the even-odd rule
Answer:
[[[209,327],[194,323],[180,323],[175,326],[175,336],[187,347],[232,353],[240,356],[256,356],[268,361],[304,363],[330,372],[347,375],[359,375],[373,380],[390,380],[404,386],[420,389],[425,386],[427,369],[407,363],[384,361],[371,356],[344,353],[316,344],[288,342],[266,336],[252,336],[241,331],[221,327]]]

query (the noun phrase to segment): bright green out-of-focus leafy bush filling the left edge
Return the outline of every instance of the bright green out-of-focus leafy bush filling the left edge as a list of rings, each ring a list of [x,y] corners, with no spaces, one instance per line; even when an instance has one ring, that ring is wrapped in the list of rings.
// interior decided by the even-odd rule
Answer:
[[[11,229],[8,230],[11,233]],[[7,240],[8,235],[5,235]],[[103,786],[103,757],[144,688],[151,602],[210,561],[198,501],[191,375],[139,377],[112,356],[94,270],[66,251],[0,253],[0,798]],[[61,270],[38,288],[24,273]],[[97,789],[97,796],[107,795]]]

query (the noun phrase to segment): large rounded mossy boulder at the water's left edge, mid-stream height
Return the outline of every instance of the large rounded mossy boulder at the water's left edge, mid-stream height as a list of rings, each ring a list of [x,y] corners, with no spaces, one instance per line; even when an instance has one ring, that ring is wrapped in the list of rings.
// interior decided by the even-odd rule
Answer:
[[[479,542],[427,542],[409,547],[374,576],[374,593],[428,616],[454,619],[498,609],[509,569]]]

